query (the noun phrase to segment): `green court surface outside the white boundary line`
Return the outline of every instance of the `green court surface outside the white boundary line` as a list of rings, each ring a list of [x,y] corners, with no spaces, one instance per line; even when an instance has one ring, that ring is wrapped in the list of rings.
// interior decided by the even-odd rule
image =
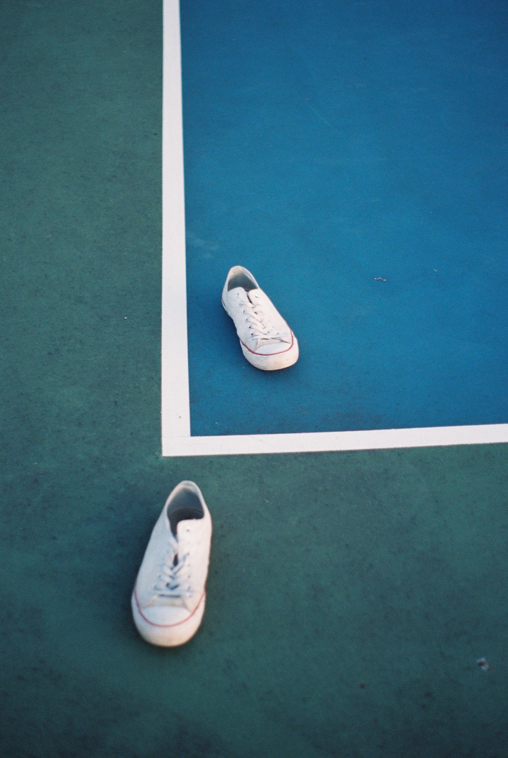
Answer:
[[[160,3],[3,8],[0,756],[504,758],[508,447],[163,459]],[[159,650],[184,478],[207,611]]]

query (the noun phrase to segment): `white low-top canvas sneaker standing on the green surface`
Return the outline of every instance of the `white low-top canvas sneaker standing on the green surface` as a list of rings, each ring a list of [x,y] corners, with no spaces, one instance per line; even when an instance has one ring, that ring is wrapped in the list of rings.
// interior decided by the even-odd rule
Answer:
[[[204,614],[212,520],[193,481],[182,481],[151,533],[132,592],[139,634],[163,647],[182,645]]]

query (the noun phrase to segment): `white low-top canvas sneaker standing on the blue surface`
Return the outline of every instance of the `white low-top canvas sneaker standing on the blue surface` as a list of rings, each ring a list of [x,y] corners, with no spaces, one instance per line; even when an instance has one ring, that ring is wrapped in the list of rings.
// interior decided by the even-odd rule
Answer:
[[[256,368],[275,371],[298,361],[298,341],[251,272],[233,266],[223,289],[223,306],[231,316],[245,358]]]

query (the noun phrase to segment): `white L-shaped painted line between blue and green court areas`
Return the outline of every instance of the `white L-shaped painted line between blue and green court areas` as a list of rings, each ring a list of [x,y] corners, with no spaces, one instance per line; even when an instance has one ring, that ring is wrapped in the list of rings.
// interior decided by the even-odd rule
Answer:
[[[179,0],[164,0],[162,455],[317,453],[508,442],[508,424],[191,437]]]

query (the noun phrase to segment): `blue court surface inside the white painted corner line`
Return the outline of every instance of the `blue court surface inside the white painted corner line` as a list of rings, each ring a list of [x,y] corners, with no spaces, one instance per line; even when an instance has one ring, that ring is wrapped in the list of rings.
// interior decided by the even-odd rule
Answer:
[[[183,0],[192,435],[508,421],[505,14]],[[245,362],[236,264],[294,367]]]

